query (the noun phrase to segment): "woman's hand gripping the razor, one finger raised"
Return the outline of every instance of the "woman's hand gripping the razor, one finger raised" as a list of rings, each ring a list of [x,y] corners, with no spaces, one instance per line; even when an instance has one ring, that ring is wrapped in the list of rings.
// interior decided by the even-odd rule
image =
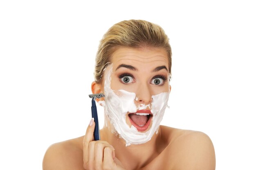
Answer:
[[[125,170],[115,157],[115,149],[108,142],[94,141],[94,119],[86,130],[83,139],[83,168],[85,170]]]

